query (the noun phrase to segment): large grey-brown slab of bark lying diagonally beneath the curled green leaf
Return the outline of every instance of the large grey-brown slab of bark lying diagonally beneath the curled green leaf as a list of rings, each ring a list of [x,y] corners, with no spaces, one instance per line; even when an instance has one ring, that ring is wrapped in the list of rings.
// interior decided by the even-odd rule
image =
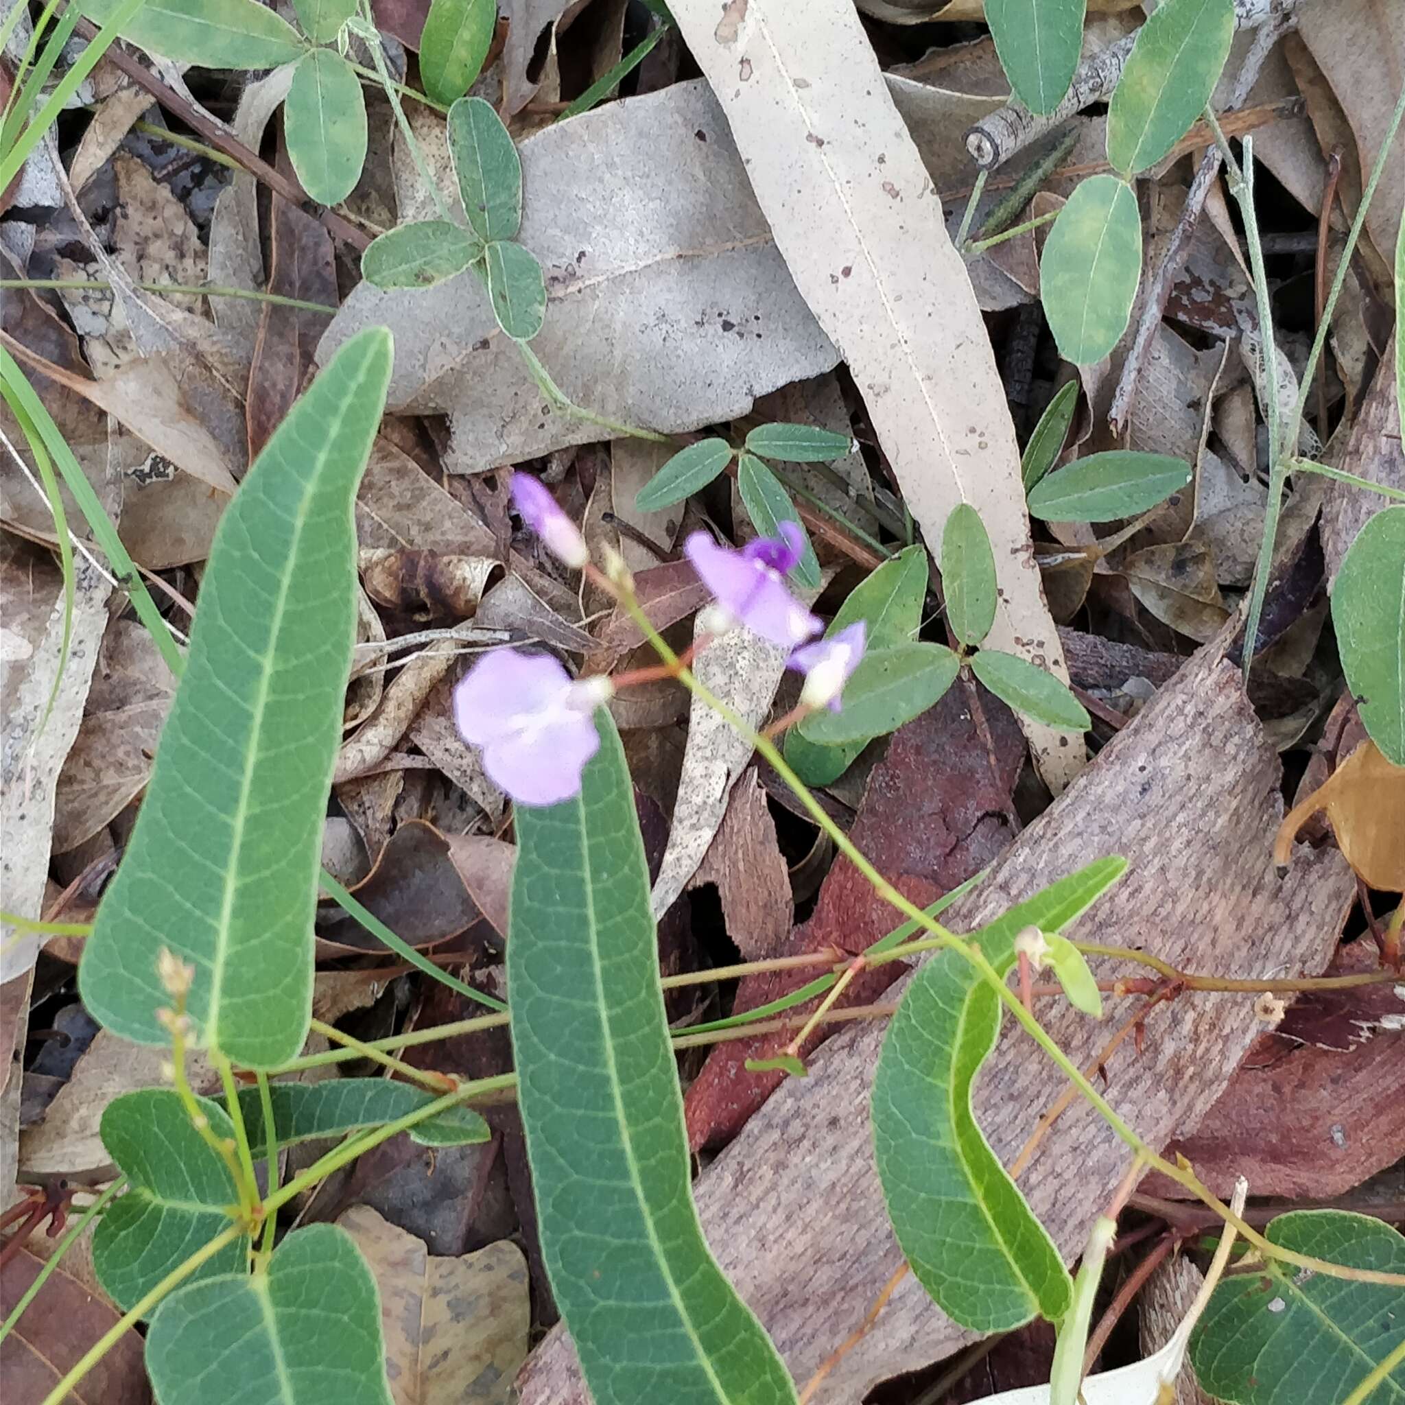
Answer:
[[[1339,854],[1300,853],[1280,880],[1270,860],[1281,818],[1279,760],[1245,701],[1224,638],[1207,645],[1010,846],[947,915],[957,932],[1103,854],[1127,875],[1071,927],[1075,939],[1145,947],[1182,968],[1225,975],[1319,971],[1354,882]],[[1125,965],[1097,962],[1102,974]],[[1130,1007],[1093,1023],[1062,1002],[1047,1028],[1085,1066]],[[1196,1125],[1256,1033],[1253,999],[1197,995],[1159,1009],[1141,1054],[1107,1061],[1106,1094],[1154,1146]],[[863,1321],[901,1263],[873,1165],[868,1090],[881,1027],[846,1030],[791,1079],[695,1186],[722,1269],[805,1381]],[[1006,1024],[976,1085],[976,1114],[1010,1162],[1064,1089],[1021,1030]],[[1021,1190],[1065,1255],[1127,1172],[1125,1146],[1096,1114],[1072,1107],[1044,1139]],[[955,1326],[910,1277],[873,1331],[835,1368],[813,1405],[861,1399],[877,1380],[950,1354]],[[569,1340],[549,1338],[518,1377],[523,1405],[586,1397]]]

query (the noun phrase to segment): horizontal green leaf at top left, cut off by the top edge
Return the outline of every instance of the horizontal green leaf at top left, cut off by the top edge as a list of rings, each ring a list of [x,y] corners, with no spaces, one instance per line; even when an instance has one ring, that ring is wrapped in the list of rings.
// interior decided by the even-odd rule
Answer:
[[[118,0],[81,0],[96,24],[117,7]],[[150,53],[202,69],[275,69],[308,52],[298,31],[259,0],[146,0],[121,32]]]

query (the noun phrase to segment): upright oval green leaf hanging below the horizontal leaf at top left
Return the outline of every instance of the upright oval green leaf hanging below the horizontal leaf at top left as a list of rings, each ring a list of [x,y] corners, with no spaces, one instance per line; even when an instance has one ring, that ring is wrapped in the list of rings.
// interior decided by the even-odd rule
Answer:
[[[355,190],[365,162],[365,98],[355,70],[334,49],[313,49],[292,70],[284,107],[288,159],[320,205]]]

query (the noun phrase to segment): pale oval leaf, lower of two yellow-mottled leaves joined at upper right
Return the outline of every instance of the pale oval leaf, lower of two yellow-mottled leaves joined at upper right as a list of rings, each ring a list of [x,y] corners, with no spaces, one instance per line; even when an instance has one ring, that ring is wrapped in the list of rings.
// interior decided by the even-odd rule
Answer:
[[[1059,354],[1079,365],[1102,361],[1127,330],[1139,278],[1137,197],[1116,176],[1089,176],[1040,259],[1040,296]]]

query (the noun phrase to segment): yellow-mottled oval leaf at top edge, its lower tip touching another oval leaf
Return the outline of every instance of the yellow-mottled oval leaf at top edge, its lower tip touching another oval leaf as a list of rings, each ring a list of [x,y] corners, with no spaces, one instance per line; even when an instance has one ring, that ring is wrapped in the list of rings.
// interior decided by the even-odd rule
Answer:
[[[1190,131],[1234,42],[1234,0],[1165,0],[1137,31],[1107,105],[1107,160],[1128,180]]]

